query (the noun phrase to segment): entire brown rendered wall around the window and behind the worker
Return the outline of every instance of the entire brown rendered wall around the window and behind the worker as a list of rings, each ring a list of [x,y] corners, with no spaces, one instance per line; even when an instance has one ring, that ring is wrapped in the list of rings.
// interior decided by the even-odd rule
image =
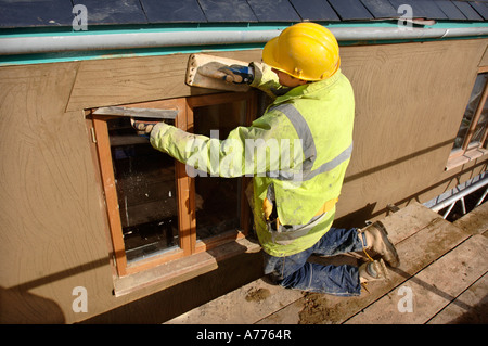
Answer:
[[[449,171],[445,165],[487,43],[342,48],[357,108],[342,223],[374,219],[389,203],[426,202],[486,170],[486,156]],[[219,54],[260,60],[259,50]],[[243,255],[164,291],[112,294],[104,201],[84,108],[205,93],[184,85],[187,59],[0,68],[0,322],[73,323],[100,313],[92,321],[163,322],[259,277],[259,256]],[[88,312],[72,309],[76,286],[87,289]]]

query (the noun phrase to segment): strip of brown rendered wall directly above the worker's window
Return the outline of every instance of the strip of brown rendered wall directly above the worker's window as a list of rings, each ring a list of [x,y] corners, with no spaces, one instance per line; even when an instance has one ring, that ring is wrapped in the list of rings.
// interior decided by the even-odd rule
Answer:
[[[260,50],[213,52],[242,61],[260,61]],[[190,54],[81,62],[68,111],[215,92],[184,84]]]

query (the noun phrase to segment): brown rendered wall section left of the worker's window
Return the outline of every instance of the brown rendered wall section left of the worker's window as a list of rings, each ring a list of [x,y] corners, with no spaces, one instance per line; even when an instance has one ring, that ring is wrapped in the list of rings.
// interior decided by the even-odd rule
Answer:
[[[0,321],[69,322],[74,287],[112,284],[85,116],[64,113],[77,65],[0,69]]]

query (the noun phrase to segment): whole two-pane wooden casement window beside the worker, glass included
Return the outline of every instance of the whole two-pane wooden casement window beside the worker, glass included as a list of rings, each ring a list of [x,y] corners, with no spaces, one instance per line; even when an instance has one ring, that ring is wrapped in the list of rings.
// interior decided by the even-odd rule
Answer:
[[[255,91],[124,105],[175,110],[178,128],[227,137],[251,125]],[[246,177],[191,178],[187,167],[137,136],[127,116],[90,110],[107,223],[118,277],[206,252],[245,238],[251,209]],[[130,112],[129,112],[130,113]]]

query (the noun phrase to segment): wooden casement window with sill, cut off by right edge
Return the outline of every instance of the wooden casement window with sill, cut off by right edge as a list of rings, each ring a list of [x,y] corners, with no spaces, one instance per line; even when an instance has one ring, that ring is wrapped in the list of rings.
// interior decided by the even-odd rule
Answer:
[[[465,164],[488,153],[488,67],[478,71],[464,116],[452,146],[446,169]]]

